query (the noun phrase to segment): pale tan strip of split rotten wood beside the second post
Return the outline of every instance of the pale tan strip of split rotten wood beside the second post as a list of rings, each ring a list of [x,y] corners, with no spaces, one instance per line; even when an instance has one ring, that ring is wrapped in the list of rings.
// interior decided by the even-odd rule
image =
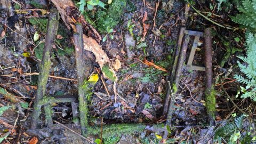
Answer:
[[[96,62],[99,63],[101,70],[103,66],[106,66],[105,68],[108,68],[108,71],[113,74],[112,77],[114,77],[114,80],[117,81],[117,76],[114,69],[109,66],[110,60],[108,55],[101,49],[101,46],[91,37],[83,35],[83,39],[84,50],[92,52],[95,55]],[[104,77],[109,78],[104,71],[102,71],[102,74]]]

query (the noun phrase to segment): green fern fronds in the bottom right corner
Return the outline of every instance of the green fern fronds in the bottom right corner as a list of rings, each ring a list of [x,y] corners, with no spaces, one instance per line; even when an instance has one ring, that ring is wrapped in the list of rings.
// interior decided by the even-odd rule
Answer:
[[[219,143],[225,141],[226,143],[235,144],[239,143],[253,143],[256,142],[256,133],[252,127],[244,127],[247,131],[241,131],[243,128],[243,121],[245,116],[239,116],[234,119],[234,122],[228,122],[226,125],[219,127],[215,130],[214,140]]]

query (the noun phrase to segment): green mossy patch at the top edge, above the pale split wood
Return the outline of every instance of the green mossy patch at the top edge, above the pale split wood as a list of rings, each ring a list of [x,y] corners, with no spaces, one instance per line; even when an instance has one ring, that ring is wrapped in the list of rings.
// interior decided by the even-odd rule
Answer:
[[[107,33],[107,27],[114,28],[121,21],[125,5],[125,0],[113,1],[107,10],[98,9],[96,13],[84,11],[83,15],[100,33]]]

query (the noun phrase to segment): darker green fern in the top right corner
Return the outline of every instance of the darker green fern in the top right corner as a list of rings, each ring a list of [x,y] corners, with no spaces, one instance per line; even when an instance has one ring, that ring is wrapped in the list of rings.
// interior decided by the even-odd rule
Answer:
[[[256,30],[256,0],[244,0],[237,9],[241,13],[231,17],[231,19],[250,30]]]

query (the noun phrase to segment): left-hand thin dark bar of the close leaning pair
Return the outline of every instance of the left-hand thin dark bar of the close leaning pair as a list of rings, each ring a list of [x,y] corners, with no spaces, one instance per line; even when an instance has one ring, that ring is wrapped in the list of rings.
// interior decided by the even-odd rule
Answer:
[[[178,39],[178,43],[177,46],[175,47],[175,50],[173,51],[173,56],[172,56],[172,62],[171,62],[171,71],[170,71],[170,78],[169,81],[172,84],[174,81],[174,77],[175,77],[175,73],[176,73],[176,69],[177,69],[177,63],[178,63],[178,58],[179,58],[179,54],[180,54],[180,49],[181,49],[181,44],[182,44],[182,38],[184,36],[184,27],[180,28],[180,32],[179,32],[179,39]],[[165,94],[165,101],[164,101],[164,109],[163,109],[163,115],[167,114],[168,111],[168,106],[169,106],[169,101],[170,101],[170,94],[171,94],[171,89],[169,86],[167,86],[167,92]]]

